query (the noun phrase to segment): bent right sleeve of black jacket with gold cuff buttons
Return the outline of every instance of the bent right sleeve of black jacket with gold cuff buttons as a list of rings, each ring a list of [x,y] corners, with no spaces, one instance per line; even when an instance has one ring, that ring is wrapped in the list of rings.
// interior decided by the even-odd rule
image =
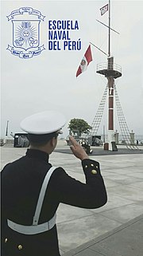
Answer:
[[[107,196],[99,163],[87,159],[82,161],[82,166],[86,183],[73,179],[60,168],[56,183],[60,202],[89,209],[102,207],[107,201]]]

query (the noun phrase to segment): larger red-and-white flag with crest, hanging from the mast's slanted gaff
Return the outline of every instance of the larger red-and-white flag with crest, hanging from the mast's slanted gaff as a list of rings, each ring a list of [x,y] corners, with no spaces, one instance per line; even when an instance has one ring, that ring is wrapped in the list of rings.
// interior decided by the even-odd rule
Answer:
[[[91,45],[89,45],[86,53],[84,54],[82,61],[80,62],[79,69],[76,72],[76,77],[78,77],[81,73],[87,70],[87,65],[89,65],[91,61],[92,61]]]

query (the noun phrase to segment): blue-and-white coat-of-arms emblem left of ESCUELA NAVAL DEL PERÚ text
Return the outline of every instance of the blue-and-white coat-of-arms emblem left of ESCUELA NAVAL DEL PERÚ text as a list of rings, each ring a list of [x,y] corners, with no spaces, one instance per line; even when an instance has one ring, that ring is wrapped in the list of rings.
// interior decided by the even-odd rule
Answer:
[[[37,15],[37,19],[27,18],[27,14]],[[14,19],[15,15],[22,15],[22,19]],[[39,10],[31,7],[21,7],[7,16],[13,25],[13,46],[7,47],[10,53],[24,59],[41,54],[44,45],[40,45],[40,25],[44,17]]]

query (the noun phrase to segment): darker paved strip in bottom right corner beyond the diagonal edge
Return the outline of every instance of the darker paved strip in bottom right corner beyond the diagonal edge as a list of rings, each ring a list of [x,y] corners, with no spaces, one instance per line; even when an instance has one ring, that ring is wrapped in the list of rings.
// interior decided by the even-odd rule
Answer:
[[[63,256],[142,256],[143,215]]]

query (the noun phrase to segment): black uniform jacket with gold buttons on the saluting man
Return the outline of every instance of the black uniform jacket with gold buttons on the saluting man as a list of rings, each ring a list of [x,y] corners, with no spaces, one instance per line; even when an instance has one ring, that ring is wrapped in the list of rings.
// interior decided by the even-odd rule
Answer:
[[[41,234],[20,234],[7,226],[7,219],[30,226],[37,207],[44,176],[51,167],[48,155],[28,149],[26,156],[8,163],[2,170],[2,256],[60,255],[56,225]],[[94,160],[82,161],[86,184],[57,167],[49,180],[39,223],[55,214],[59,203],[82,208],[98,208],[106,203],[106,188]]]

